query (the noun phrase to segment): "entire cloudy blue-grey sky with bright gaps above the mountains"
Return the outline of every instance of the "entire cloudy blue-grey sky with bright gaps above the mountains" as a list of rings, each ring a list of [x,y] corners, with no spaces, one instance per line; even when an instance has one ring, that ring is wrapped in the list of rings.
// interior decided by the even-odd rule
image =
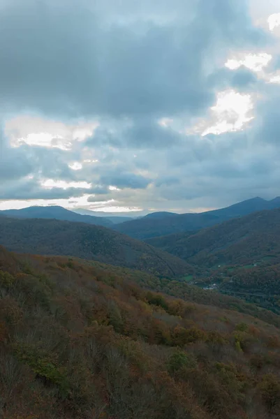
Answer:
[[[280,0],[0,0],[0,209],[280,195]]]

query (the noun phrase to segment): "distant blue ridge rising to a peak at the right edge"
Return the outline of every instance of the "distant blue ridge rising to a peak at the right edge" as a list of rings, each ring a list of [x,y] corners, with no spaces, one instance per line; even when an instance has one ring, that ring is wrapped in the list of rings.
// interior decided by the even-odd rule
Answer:
[[[274,198],[274,200],[270,201],[262,198],[253,198],[231,205],[230,207],[222,208],[221,210],[202,212],[200,214],[170,213],[168,216],[164,216],[164,213],[159,213],[161,214],[160,216],[149,214],[142,217],[142,219],[118,224],[114,228],[120,233],[130,235],[139,240],[145,240],[185,231],[198,231],[234,217],[277,207],[280,207],[280,198]]]

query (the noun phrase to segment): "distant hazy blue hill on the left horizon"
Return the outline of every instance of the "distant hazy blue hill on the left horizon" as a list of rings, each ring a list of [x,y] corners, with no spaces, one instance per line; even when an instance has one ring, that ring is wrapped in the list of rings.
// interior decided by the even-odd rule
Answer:
[[[0,211],[0,216],[5,215],[8,217],[24,218],[24,219],[57,219],[64,221],[76,221],[79,223],[94,224],[96,226],[113,226],[112,221],[105,219],[101,216],[89,216],[76,214],[73,211],[66,210],[64,207],[28,207],[22,210],[3,210]]]

